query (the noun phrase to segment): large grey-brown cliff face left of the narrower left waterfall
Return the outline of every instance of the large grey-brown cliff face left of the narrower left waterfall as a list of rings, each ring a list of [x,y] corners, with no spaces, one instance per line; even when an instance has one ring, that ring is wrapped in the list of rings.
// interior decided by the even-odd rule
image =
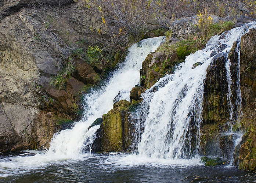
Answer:
[[[76,41],[101,44],[109,37],[101,19],[89,16],[82,4],[0,2],[0,153],[48,147],[60,124],[77,119],[81,91],[100,82],[99,74],[75,55],[78,47],[73,52],[69,47]],[[102,34],[89,27],[101,28]],[[54,78],[63,87],[50,85]]]

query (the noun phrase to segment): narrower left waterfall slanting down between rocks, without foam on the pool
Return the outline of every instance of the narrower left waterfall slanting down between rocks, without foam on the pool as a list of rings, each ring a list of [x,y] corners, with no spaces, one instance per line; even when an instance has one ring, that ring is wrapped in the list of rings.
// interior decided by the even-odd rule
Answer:
[[[110,79],[100,88],[97,87],[84,96],[83,120],[77,122],[72,129],[60,131],[51,140],[48,153],[58,156],[71,156],[83,153],[94,141],[95,131],[100,127],[88,127],[98,117],[102,117],[113,106],[113,99],[130,100],[130,90],[140,81],[141,63],[150,52],[154,52],[164,37],[150,38],[140,41],[129,48],[125,61],[114,71]],[[70,157],[69,157],[70,158]]]

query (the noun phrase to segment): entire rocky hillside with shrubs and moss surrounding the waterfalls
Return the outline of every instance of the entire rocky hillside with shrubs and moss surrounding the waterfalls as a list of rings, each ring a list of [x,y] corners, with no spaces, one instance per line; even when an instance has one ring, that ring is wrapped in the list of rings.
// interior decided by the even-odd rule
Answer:
[[[69,128],[81,114],[81,92],[98,85],[129,44],[165,34],[165,43],[143,62],[140,86],[132,89],[131,102],[116,102],[102,123],[101,119],[94,123],[101,123],[99,151],[129,152],[130,112],[141,102],[141,93],[173,73],[177,64],[202,49],[211,36],[253,20],[245,15],[256,17],[256,4],[251,0],[1,3],[0,152],[47,147],[56,131]],[[255,35],[251,30],[241,41],[244,116],[233,128],[245,132],[235,163],[252,171],[256,169]],[[231,53],[229,58],[236,55]],[[225,154],[221,143],[231,138],[220,140],[229,118],[223,63],[221,56],[215,58],[205,81],[201,153],[207,156]],[[208,158],[203,161],[218,164]]]

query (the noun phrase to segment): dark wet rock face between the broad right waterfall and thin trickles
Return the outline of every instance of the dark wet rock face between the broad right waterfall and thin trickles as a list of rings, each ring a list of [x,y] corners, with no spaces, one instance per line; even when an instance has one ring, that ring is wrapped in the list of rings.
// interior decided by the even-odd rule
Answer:
[[[228,127],[226,61],[226,56],[219,54],[213,58],[212,63],[207,68],[200,137],[200,153],[203,156],[221,154],[219,139]]]

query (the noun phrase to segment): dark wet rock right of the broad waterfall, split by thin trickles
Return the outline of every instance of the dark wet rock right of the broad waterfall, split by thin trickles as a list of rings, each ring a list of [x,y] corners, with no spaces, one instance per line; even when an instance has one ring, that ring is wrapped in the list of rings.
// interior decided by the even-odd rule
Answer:
[[[219,57],[214,59],[207,69],[205,81],[205,93],[203,98],[203,124],[201,125],[201,153],[210,156],[220,154],[224,160],[230,159],[234,151],[234,164],[240,169],[255,171],[255,77],[256,77],[256,30],[252,29],[248,34],[241,38],[240,48],[240,88],[242,96],[243,115],[240,117],[240,124],[235,120],[239,119],[240,107],[237,102],[237,72],[238,72],[238,53],[239,46],[234,42],[228,59],[231,61],[231,102],[233,105],[233,131],[240,130],[245,132],[241,143],[234,148],[234,135],[224,135],[227,131],[227,121],[229,110],[227,103],[227,81],[225,59]],[[217,62],[218,63],[217,63]]]

